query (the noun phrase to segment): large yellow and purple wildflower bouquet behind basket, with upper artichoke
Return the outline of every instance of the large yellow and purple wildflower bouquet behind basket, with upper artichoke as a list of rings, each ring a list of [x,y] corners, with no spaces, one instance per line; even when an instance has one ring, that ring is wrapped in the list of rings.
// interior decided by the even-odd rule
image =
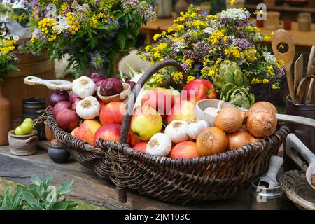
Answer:
[[[188,74],[188,81],[195,78],[213,80],[221,98],[233,96],[228,91],[235,90],[235,86],[245,92],[256,83],[269,83],[278,88],[279,78],[284,75],[283,62],[278,62],[260,44],[270,36],[262,36],[249,19],[250,14],[244,9],[231,8],[208,15],[190,6],[174,20],[167,32],[156,34],[153,39],[158,43],[147,45],[140,56],[151,64],[176,60]],[[176,81],[183,77],[172,69],[166,72]],[[169,76],[154,78],[159,83]],[[253,96],[249,98],[253,100]]]

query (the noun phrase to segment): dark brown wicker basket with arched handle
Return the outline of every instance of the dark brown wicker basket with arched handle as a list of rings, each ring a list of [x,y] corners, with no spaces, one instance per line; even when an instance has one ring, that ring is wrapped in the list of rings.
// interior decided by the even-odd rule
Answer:
[[[146,83],[152,74],[165,66],[174,66],[183,72],[176,62],[165,61],[149,69],[139,84]],[[48,111],[48,125],[62,146],[82,165],[93,169],[100,178],[111,179],[119,190],[122,202],[126,200],[125,188],[181,204],[232,197],[266,172],[269,158],[278,152],[288,134],[286,123],[279,123],[278,130],[272,136],[235,151],[188,159],[148,155],[123,144],[127,141],[133,105],[137,98],[136,89],[128,99],[121,131],[122,143],[99,139],[97,147],[90,146],[57,127]]]

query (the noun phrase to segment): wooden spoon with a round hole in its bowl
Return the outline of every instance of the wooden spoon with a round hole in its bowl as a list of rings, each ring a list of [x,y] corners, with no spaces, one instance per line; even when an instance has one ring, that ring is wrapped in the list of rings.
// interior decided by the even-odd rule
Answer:
[[[290,91],[290,96],[293,102],[295,102],[295,92],[294,92],[294,83],[291,75],[291,65],[294,60],[295,55],[295,47],[292,36],[288,33],[288,31],[284,29],[278,29],[274,35],[272,35],[272,50],[274,51],[274,55],[276,59],[282,60],[284,62],[284,70],[286,71],[286,79],[288,81],[288,88]],[[279,52],[278,45],[279,43],[286,43],[288,45],[287,52]]]

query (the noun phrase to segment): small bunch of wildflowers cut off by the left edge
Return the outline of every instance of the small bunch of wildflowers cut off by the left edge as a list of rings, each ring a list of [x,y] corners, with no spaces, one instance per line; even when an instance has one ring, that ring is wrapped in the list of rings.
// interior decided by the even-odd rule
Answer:
[[[8,71],[18,70],[14,62],[17,60],[15,50],[18,36],[11,35],[3,22],[0,22],[0,80]]]

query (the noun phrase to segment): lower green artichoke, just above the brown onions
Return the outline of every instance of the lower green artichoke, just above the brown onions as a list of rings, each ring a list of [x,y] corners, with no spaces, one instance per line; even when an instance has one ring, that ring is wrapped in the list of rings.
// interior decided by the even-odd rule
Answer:
[[[236,85],[228,90],[226,94],[221,94],[221,100],[244,109],[249,109],[251,105],[255,104],[254,94],[248,93],[248,88],[237,87]]]

